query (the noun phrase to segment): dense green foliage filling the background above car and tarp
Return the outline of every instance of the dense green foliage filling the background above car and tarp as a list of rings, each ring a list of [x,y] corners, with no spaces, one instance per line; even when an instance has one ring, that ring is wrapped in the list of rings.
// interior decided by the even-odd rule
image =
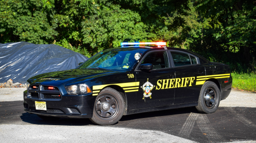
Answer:
[[[123,41],[166,41],[256,70],[252,0],[2,0],[0,43],[57,44],[88,57]]]

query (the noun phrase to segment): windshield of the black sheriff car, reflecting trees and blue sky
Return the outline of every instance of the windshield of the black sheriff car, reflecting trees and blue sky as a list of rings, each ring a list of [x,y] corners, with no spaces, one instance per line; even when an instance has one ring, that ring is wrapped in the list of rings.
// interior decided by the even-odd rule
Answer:
[[[107,50],[94,55],[80,65],[79,69],[110,69],[130,71],[136,64],[136,51]]]

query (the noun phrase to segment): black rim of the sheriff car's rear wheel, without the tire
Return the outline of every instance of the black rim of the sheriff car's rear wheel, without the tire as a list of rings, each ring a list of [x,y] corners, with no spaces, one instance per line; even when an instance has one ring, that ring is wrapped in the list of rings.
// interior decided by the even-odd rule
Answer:
[[[208,108],[214,107],[216,103],[216,92],[213,88],[207,88],[204,92],[204,104]]]

